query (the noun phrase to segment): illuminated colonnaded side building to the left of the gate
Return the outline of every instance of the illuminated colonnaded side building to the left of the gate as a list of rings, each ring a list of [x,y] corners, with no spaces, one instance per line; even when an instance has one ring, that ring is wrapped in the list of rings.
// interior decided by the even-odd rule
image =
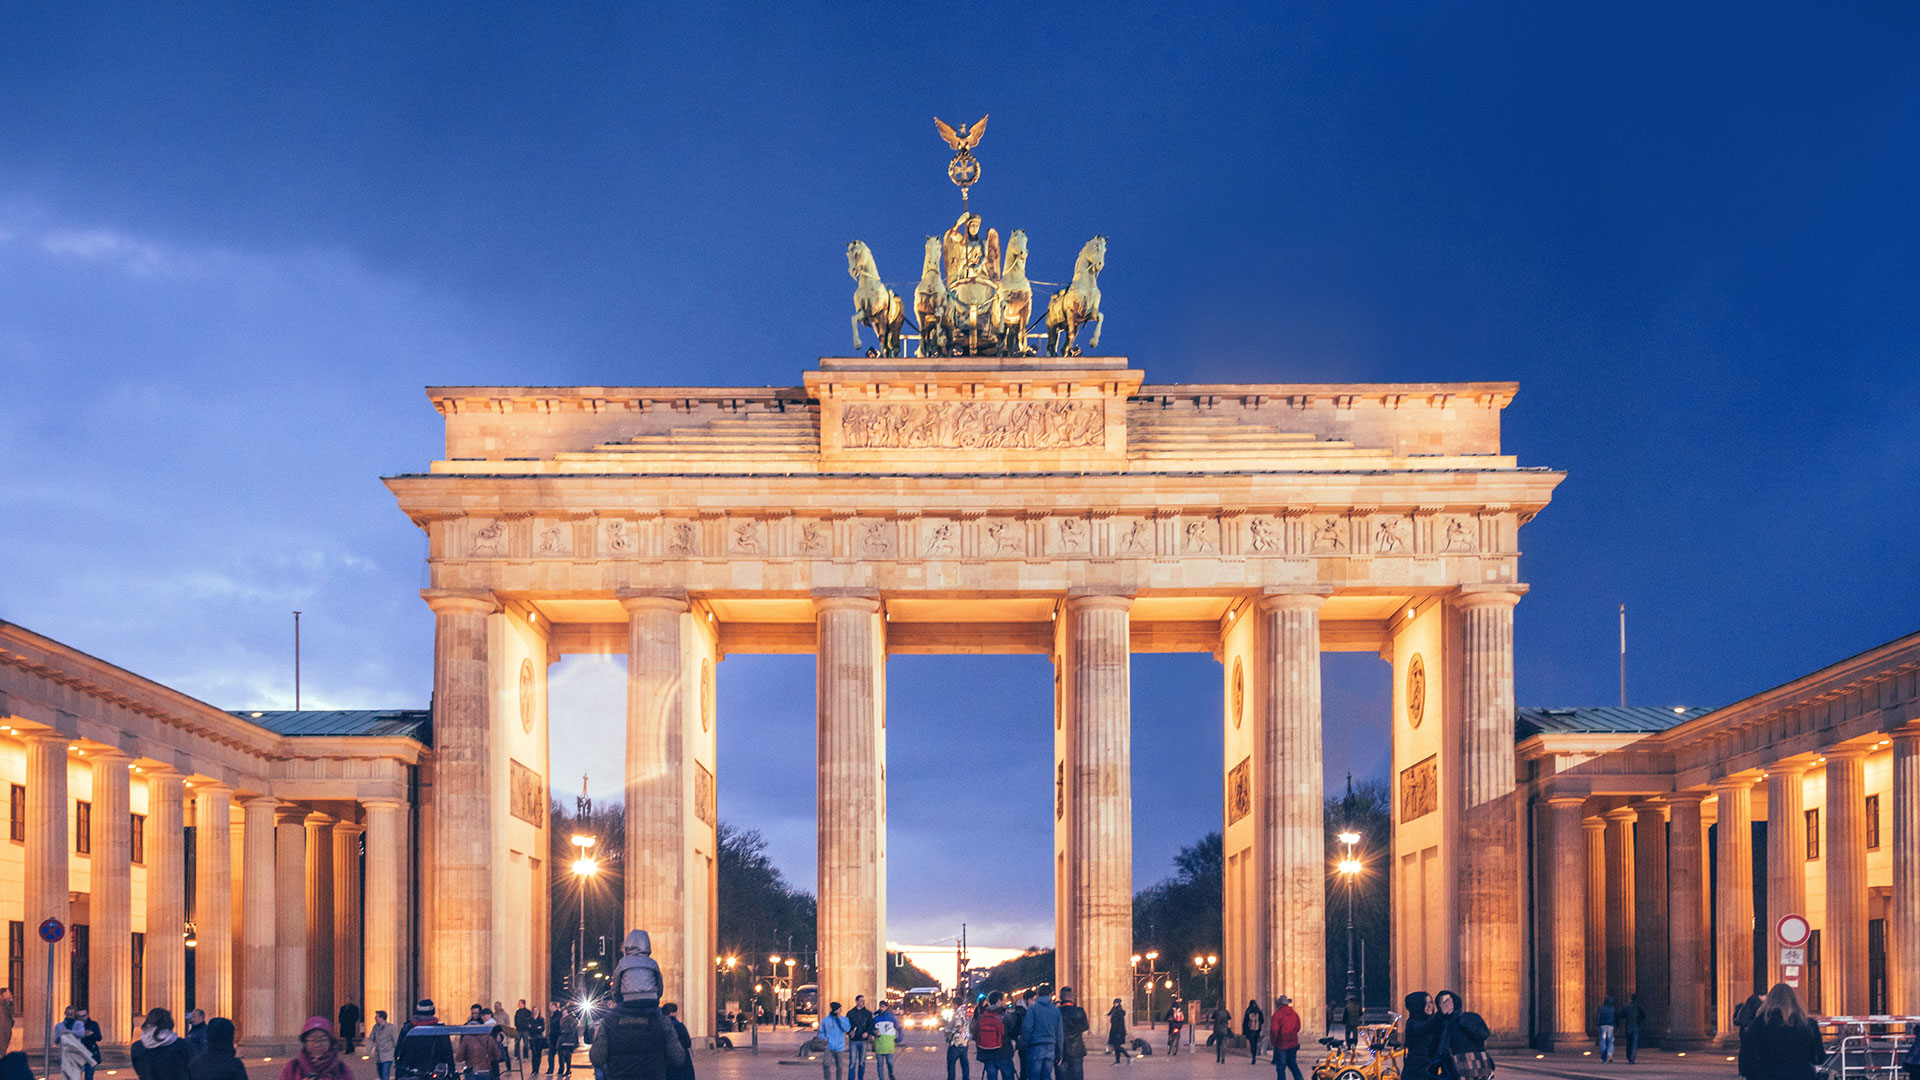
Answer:
[[[405,1015],[424,711],[228,713],[0,621],[0,846],[15,1047],[84,1005],[108,1049],[146,1009],[246,1047],[346,1001]]]

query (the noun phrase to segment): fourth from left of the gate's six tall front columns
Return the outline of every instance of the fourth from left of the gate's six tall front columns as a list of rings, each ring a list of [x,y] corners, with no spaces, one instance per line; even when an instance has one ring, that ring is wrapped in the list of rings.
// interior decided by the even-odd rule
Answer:
[[[1060,761],[1062,984],[1087,1001],[1123,997],[1133,963],[1131,596],[1062,605]]]

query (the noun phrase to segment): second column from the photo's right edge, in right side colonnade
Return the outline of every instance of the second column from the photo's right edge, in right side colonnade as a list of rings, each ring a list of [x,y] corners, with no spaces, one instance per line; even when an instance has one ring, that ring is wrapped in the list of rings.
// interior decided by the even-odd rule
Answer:
[[[1862,1017],[1866,999],[1866,748],[1826,751],[1826,1011]]]

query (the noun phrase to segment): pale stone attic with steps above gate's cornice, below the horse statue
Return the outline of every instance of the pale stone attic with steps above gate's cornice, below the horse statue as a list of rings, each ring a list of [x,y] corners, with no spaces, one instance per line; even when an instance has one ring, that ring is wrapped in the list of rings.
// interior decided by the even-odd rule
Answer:
[[[1513,382],[1142,384],[1121,357],[960,371],[822,359],[804,386],[436,386],[434,473],[1515,469]],[[899,365],[900,361],[891,361]],[[1068,361],[1060,361],[1068,363]]]

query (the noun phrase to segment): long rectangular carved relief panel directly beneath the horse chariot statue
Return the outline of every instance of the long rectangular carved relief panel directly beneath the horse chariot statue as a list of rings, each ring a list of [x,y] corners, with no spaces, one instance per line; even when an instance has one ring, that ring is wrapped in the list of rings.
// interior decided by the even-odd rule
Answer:
[[[847,450],[1071,450],[1106,444],[1100,402],[900,402],[847,405]]]

